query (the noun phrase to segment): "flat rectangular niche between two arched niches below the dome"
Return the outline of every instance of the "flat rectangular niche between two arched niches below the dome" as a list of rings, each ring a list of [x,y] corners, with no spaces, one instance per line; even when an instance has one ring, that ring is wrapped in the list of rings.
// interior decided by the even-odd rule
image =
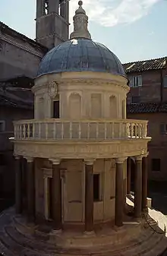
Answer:
[[[102,118],[102,94],[101,93],[91,94],[91,118],[93,119]]]

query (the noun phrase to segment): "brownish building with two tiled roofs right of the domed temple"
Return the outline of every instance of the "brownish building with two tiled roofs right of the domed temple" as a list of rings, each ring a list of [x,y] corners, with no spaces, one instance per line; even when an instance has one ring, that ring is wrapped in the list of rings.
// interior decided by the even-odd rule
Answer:
[[[149,179],[166,181],[165,160],[167,113],[166,58],[124,65],[130,81],[128,118],[149,120]]]

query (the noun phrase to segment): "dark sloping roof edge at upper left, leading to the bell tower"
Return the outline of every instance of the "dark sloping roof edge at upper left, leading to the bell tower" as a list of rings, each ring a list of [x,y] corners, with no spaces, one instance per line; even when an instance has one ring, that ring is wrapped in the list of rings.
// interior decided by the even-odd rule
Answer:
[[[2,31],[2,32],[4,31],[5,33],[8,33],[11,36],[20,38],[20,40],[27,41],[27,43],[30,43],[31,46],[43,51],[43,53],[48,52],[48,49],[45,46],[42,46],[40,43],[37,43],[36,41],[30,39],[29,37],[25,36],[24,34],[19,33],[16,30],[13,30],[11,27],[8,27],[2,21],[0,21],[0,31]]]

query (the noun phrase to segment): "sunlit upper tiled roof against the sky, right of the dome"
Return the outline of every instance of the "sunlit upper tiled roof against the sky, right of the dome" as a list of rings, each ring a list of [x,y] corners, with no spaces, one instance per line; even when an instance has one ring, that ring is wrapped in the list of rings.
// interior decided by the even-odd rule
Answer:
[[[165,68],[166,63],[167,63],[167,57],[163,57],[163,58],[154,58],[154,59],[149,59],[149,60],[139,61],[139,62],[124,63],[123,66],[124,66],[125,72],[130,73],[130,72],[162,69],[162,68]]]

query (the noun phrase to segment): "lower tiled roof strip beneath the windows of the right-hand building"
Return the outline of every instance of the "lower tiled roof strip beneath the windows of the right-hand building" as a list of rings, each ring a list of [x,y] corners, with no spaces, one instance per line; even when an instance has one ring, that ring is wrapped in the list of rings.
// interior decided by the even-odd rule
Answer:
[[[137,103],[128,104],[127,112],[132,113],[156,113],[167,112],[167,103]]]

